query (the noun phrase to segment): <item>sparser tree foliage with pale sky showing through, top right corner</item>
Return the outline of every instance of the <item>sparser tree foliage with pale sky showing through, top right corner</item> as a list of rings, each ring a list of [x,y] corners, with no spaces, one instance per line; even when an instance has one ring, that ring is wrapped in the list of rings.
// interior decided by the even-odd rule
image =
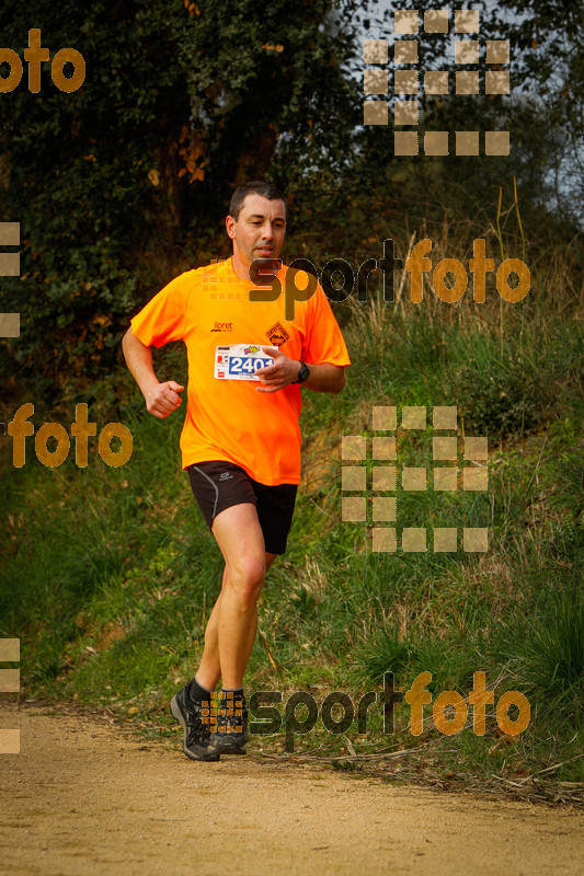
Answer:
[[[410,9],[408,0],[394,0],[394,10]],[[462,7],[479,10],[477,34],[455,34],[454,19]],[[420,68],[454,71],[477,69],[457,65],[453,48],[456,39],[478,39],[481,64],[486,41],[508,39],[511,64],[490,69],[508,69],[511,94],[480,97],[435,97],[420,93],[423,127],[428,130],[509,130],[511,160],[465,161],[467,191],[492,186],[501,168],[511,170],[525,193],[539,207],[562,214],[564,219],[581,221],[584,208],[584,5],[573,0],[467,0],[465,3],[426,0],[424,11],[448,9],[448,34],[428,34],[421,26]],[[423,12],[420,12],[423,15]],[[391,16],[392,19],[392,16]],[[392,20],[377,21],[380,36],[393,41]],[[404,38],[404,37],[399,37]],[[408,38],[408,37],[405,37]],[[451,91],[450,87],[450,91]],[[470,166],[481,169],[473,172]],[[460,162],[449,160],[445,168],[458,170]],[[470,182],[472,181],[472,182]],[[446,182],[446,180],[445,180]]]

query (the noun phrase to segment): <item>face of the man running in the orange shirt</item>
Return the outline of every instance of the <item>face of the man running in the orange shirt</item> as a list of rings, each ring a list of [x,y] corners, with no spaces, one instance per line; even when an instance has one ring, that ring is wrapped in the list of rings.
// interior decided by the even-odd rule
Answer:
[[[284,201],[248,195],[238,220],[228,216],[226,224],[233,241],[234,262],[248,270],[255,258],[278,257],[286,233]]]

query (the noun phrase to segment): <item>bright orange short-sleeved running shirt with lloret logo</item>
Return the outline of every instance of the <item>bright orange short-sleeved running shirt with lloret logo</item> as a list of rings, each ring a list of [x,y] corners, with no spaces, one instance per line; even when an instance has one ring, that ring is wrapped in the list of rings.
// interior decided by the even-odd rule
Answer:
[[[188,357],[182,468],[225,459],[270,486],[300,483],[300,384],[256,392],[261,383],[215,377],[215,348],[225,344],[277,346],[309,365],[351,365],[341,330],[322,288],[295,303],[285,319],[285,275],[276,301],[250,301],[254,288],[233,272],[231,258],[171,280],[131,320],[146,346],[184,341]],[[298,280],[298,287],[302,288]]]

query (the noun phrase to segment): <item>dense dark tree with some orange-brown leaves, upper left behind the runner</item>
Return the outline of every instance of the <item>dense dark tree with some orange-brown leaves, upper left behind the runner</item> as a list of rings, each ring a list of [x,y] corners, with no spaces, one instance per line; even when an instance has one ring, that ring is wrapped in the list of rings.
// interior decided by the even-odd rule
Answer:
[[[144,287],[170,279],[190,233],[213,233],[236,184],[343,164],[359,106],[345,76],[355,5],[2,4],[3,46],[23,58],[39,27],[51,58],[70,46],[87,65],[76,92],[43,62],[39,93],[24,64],[19,88],[0,94],[0,218],[22,234],[21,278],[1,299],[22,325],[7,368],[42,370],[47,385],[64,369],[95,374],[156,290]]]

